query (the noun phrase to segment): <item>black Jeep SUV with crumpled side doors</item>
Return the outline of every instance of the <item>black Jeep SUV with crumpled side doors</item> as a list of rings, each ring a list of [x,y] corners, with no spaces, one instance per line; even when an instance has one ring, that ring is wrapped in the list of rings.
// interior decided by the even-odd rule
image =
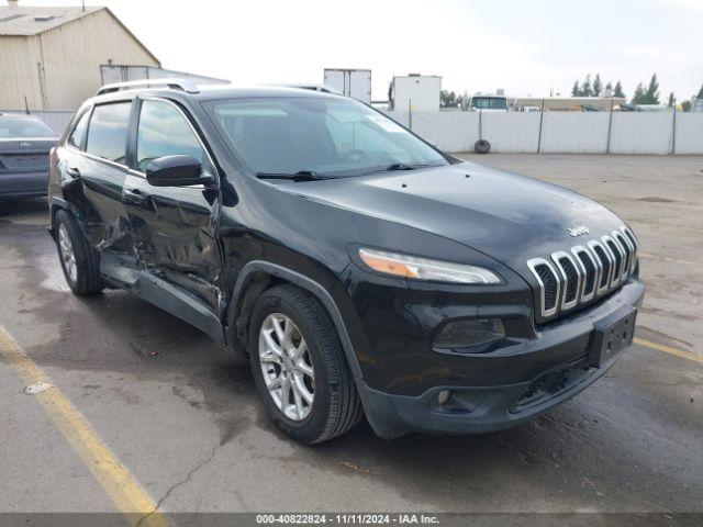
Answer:
[[[125,289],[247,352],[308,444],[364,414],[386,438],[529,419],[613,365],[645,289],[607,209],[325,92],[104,87],[48,193],[76,294]]]

